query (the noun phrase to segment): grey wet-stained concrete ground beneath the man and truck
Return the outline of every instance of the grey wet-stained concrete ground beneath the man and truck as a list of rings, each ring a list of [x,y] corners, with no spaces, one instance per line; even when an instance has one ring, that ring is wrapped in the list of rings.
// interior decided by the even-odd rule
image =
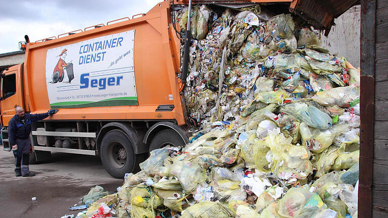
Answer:
[[[35,177],[15,177],[14,161],[0,146],[0,217],[76,216],[82,210],[69,207],[81,205],[90,188],[100,185],[112,194],[124,181],[111,177],[97,156],[53,152],[51,161],[30,165]]]

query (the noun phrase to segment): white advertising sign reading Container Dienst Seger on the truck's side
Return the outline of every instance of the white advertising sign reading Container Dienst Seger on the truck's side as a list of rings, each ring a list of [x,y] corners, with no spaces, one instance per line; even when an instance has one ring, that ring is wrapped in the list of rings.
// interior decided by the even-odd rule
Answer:
[[[51,107],[137,105],[134,36],[130,30],[48,49]]]

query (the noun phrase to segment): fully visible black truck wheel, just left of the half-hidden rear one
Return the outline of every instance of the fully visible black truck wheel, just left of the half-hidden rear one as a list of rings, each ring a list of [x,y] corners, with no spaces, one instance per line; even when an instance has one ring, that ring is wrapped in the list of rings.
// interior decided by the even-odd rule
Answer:
[[[121,130],[111,130],[101,141],[101,161],[113,177],[122,179],[135,168],[135,152],[128,135]]]

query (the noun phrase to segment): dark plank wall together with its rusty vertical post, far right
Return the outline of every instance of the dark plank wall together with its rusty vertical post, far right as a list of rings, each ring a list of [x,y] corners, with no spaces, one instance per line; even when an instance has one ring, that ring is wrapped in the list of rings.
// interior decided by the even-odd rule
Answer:
[[[358,217],[388,217],[388,0],[361,0]]]

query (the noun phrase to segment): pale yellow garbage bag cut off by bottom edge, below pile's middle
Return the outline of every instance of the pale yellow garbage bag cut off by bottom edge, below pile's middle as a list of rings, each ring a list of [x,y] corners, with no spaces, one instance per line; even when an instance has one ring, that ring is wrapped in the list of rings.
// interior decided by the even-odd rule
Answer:
[[[233,212],[222,203],[204,201],[194,204],[182,211],[180,218],[228,218],[233,217]]]

